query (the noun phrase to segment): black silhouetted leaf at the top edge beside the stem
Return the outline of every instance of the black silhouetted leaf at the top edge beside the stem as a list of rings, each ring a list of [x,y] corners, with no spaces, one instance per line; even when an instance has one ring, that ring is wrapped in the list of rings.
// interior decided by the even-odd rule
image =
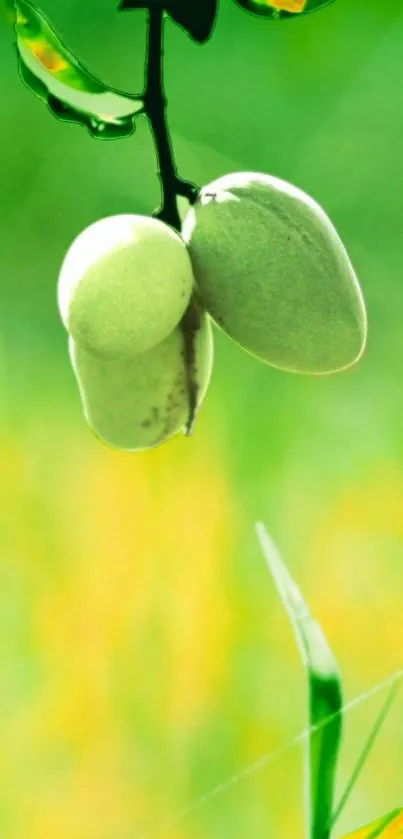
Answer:
[[[155,7],[163,7],[197,44],[204,44],[213,33],[218,0],[121,0],[119,11]]]

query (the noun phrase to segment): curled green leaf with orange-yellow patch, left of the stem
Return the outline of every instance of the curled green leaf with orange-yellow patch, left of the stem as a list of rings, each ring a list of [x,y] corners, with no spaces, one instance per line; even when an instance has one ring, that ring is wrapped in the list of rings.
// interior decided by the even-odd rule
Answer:
[[[13,24],[21,78],[54,116],[85,126],[99,139],[133,134],[140,97],[91,75],[29,0],[16,0]]]

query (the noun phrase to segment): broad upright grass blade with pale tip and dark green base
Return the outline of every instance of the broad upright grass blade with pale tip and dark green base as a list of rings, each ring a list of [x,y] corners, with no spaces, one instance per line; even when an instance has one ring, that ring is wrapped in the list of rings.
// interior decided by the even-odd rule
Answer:
[[[293,627],[309,687],[306,760],[307,822],[310,839],[328,839],[341,744],[342,692],[339,669],[326,638],[263,524],[260,546]]]

